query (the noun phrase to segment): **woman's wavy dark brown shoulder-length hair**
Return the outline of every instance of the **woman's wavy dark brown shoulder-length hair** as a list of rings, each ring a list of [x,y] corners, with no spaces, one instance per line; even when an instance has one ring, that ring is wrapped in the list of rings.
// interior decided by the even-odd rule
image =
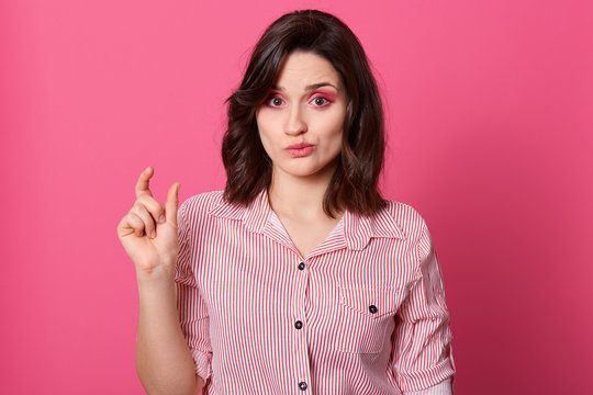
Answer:
[[[226,99],[223,196],[230,203],[248,205],[269,188],[271,160],[261,145],[255,114],[267,99],[284,57],[298,50],[328,60],[342,77],[348,97],[342,153],[325,192],[324,211],[332,217],[343,208],[372,215],[387,204],[378,191],[385,145],[381,99],[356,35],[336,16],[317,10],[294,11],[276,20],[256,44],[239,88]]]

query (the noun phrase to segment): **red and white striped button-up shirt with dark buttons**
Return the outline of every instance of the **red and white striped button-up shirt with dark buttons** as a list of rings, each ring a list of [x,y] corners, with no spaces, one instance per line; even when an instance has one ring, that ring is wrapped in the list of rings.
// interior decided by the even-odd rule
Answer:
[[[440,268],[419,214],[346,211],[301,257],[266,190],[179,207],[180,324],[204,394],[450,394]]]

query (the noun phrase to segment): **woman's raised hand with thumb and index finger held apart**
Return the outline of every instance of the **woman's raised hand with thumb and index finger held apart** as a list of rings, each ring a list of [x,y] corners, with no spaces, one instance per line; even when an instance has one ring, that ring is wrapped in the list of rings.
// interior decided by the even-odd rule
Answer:
[[[163,207],[150,193],[152,167],[136,183],[136,202],[118,225],[118,237],[138,275],[166,276],[172,280],[177,261],[177,208],[181,184],[174,183]]]

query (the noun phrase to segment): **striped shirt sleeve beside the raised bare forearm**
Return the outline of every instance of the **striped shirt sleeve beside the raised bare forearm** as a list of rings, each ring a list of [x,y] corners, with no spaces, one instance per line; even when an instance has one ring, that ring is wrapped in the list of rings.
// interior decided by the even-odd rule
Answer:
[[[200,295],[193,272],[190,227],[186,218],[187,201],[177,212],[178,253],[175,273],[179,324],[195,363],[195,373],[204,380],[212,373],[212,347],[206,305]]]

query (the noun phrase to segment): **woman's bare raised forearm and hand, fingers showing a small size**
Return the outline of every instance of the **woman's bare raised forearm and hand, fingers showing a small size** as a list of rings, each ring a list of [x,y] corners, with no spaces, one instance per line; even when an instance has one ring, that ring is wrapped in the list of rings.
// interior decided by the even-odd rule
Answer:
[[[153,168],[142,172],[136,202],[118,226],[118,236],[136,268],[139,314],[136,371],[150,395],[195,395],[204,386],[179,324],[176,304],[179,183],[169,188],[165,210],[153,198]]]

